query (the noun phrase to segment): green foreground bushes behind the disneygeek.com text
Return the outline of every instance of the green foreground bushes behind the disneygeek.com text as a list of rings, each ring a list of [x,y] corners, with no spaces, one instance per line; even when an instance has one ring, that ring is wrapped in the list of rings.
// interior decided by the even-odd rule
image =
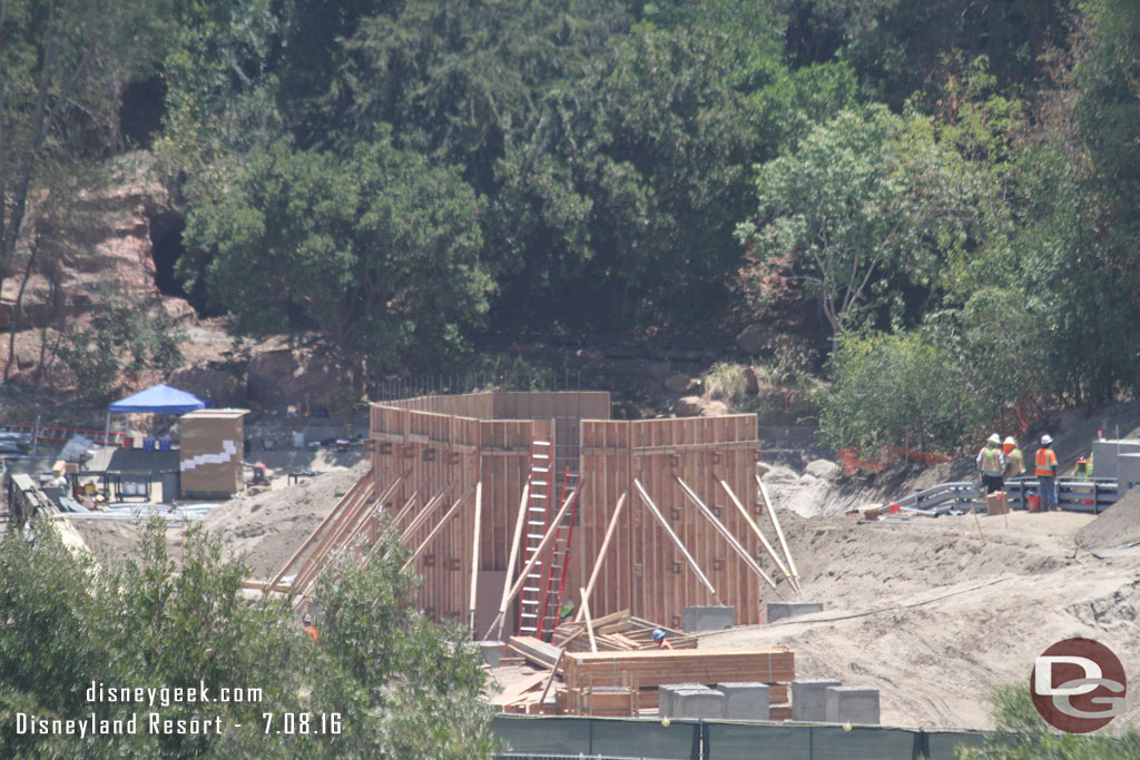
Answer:
[[[188,532],[174,559],[164,526],[150,524],[135,559],[101,566],[72,555],[51,529],[30,536],[34,541],[19,531],[0,540],[6,758],[478,758],[495,749],[490,716],[474,698],[481,660],[461,631],[415,612],[414,577],[400,571],[396,545],[367,570],[323,581],[317,643],[285,604],[243,599],[247,569],[223,559],[220,542],[202,530]],[[91,701],[92,681],[108,689],[204,684],[211,701],[171,693],[166,705],[99,694]],[[223,688],[261,693],[227,702]],[[21,734],[18,712],[124,721],[135,713],[138,730],[111,739]],[[217,718],[221,734],[153,733],[150,712]],[[290,727],[285,713],[310,713],[310,732],[300,717]],[[340,713],[335,732],[332,713]]]

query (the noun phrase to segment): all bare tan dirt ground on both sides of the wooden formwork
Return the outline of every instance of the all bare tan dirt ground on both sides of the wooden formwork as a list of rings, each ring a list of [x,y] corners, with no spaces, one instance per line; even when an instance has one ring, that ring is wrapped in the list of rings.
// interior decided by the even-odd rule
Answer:
[[[269,453],[266,464],[279,479],[274,488],[239,496],[205,518],[261,579],[284,564],[367,468],[349,455],[294,461],[304,455],[282,452],[288,460],[276,463]],[[325,472],[291,485],[284,474],[300,464]],[[836,508],[824,488],[834,493],[837,484],[817,485],[813,496],[824,499],[817,516],[779,509],[801,594],[782,582],[780,595],[764,587],[763,600],[822,602],[824,612],[706,634],[700,646],[788,645],[798,677],[877,687],[882,722],[904,726],[991,726],[993,688],[1025,683],[1034,657],[1062,638],[1094,638],[1116,652],[1126,672],[1140,673],[1140,557],[1090,554],[1124,538],[1140,540],[1140,492],[1137,505],[1125,499],[1100,517],[1015,512],[1007,528],[1002,516],[976,522],[972,515],[856,524],[853,516],[824,516]],[[799,487],[769,485],[773,500],[784,501],[792,488]],[[860,493],[846,499],[870,500]],[[129,523],[75,524],[97,554],[122,556],[138,539]],[[762,529],[772,533],[766,523]],[[177,550],[180,529],[169,538]],[[510,683],[523,672],[497,676]],[[1132,722],[1140,720],[1137,704],[1130,703]]]

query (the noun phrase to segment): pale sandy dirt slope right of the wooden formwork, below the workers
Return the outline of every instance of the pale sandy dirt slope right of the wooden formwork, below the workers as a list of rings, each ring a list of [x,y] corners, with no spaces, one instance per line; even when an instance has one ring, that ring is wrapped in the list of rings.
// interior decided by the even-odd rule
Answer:
[[[876,687],[882,722],[898,726],[991,727],[994,687],[1028,683],[1034,659],[1069,637],[1101,641],[1140,673],[1140,557],[1078,549],[1092,515],[1015,512],[1008,526],[780,517],[801,583],[799,595],[781,585],[783,597],[824,611],[705,634],[699,646],[788,645],[797,678]],[[1138,705],[1130,698],[1131,722]]]

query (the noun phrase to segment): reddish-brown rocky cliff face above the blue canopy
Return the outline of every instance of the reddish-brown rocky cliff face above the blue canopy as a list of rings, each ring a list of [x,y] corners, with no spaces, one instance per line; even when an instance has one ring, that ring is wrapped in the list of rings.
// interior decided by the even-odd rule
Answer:
[[[180,219],[171,210],[162,183],[148,171],[147,155],[129,158],[135,167],[125,180],[80,190],[66,203],[40,203],[30,214],[25,235],[30,246],[21,252],[16,272],[0,289],[0,329],[6,333],[11,329],[21,288],[24,291],[13,381],[70,390],[64,378],[51,373],[36,376],[46,356],[40,328],[51,328],[46,333],[50,343],[68,324],[83,322],[109,288],[139,309],[164,310],[185,333],[185,366],[169,377],[124,377],[124,393],[166,382],[217,406],[327,406],[344,383],[335,363],[319,349],[299,349],[282,337],[238,345],[225,319],[202,319],[186,299],[171,295],[177,291],[173,262],[163,251],[156,263],[155,242],[169,245],[171,229],[180,231]],[[32,246],[39,250],[25,283]],[[0,341],[0,367],[7,351],[8,341]]]

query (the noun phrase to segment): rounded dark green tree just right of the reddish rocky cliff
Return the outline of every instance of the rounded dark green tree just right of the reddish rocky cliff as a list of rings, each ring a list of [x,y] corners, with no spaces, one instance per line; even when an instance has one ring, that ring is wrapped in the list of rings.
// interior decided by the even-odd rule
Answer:
[[[203,269],[238,330],[321,329],[357,381],[366,358],[430,370],[457,356],[492,285],[474,193],[386,131],[343,160],[283,139],[235,162],[185,238],[184,276]]]

